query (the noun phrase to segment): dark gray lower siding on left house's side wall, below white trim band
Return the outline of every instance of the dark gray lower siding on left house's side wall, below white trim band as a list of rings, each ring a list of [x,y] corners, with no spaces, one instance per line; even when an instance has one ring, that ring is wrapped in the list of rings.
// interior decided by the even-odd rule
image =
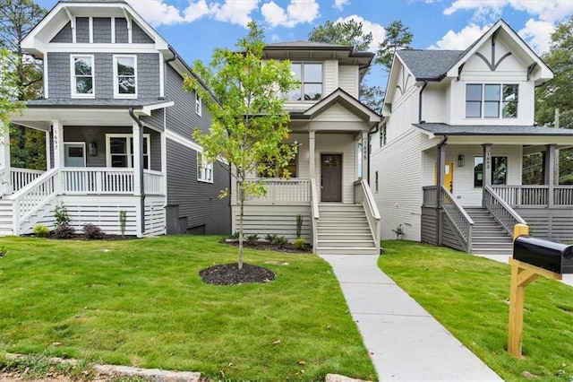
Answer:
[[[213,172],[212,184],[198,181],[197,152],[167,139],[167,225],[181,219],[186,224],[183,230],[230,233],[229,198],[218,198],[221,190],[230,187],[229,175],[218,163]]]

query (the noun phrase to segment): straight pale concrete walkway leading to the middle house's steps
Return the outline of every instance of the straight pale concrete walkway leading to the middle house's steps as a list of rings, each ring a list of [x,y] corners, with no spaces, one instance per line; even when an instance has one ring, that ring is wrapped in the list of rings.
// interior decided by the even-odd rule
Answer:
[[[381,381],[502,380],[382,273],[377,255],[321,257],[340,282]]]

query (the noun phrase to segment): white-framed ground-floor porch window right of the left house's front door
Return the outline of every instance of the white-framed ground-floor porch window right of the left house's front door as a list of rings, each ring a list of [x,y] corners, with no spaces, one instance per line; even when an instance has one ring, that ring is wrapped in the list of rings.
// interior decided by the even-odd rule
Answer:
[[[133,168],[133,135],[107,134],[107,167]],[[150,135],[143,135],[143,168],[150,169]]]

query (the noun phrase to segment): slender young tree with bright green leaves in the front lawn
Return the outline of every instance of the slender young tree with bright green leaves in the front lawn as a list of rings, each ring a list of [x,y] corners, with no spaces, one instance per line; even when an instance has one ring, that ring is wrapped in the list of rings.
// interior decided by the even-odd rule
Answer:
[[[288,178],[288,161],[296,150],[295,145],[280,144],[288,138],[290,120],[283,94],[298,85],[290,62],[263,62],[263,30],[256,22],[249,22],[248,28],[247,36],[236,43],[238,51],[216,48],[209,66],[194,63],[193,72],[212,94],[195,77],[186,76],[184,81],[184,88],[197,91],[212,116],[209,132],[196,129],[193,134],[203,148],[202,157],[226,161],[224,168],[237,185],[239,269],[243,267],[244,202],[266,193],[264,182],[247,178],[257,174]],[[221,195],[227,194],[224,190]]]

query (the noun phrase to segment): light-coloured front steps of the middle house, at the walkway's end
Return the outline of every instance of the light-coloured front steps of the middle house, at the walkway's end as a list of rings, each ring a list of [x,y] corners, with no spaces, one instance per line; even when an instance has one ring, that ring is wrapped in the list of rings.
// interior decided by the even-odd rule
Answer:
[[[318,255],[379,255],[360,204],[319,204]]]

